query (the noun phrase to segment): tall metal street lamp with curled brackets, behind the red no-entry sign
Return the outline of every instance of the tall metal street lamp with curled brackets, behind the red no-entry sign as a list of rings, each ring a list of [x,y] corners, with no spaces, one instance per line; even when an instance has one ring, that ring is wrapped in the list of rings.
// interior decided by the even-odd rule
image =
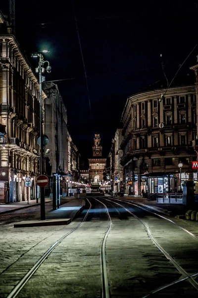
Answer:
[[[31,55],[31,57],[39,57],[39,66],[35,69],[35,72],[39,74],[40,139],[41,139],[40,175],[42,175],[44,170],[42,74],[44,74],[45,71],[47,71],[47,73],[50,73],[51,67],[49,66],[49,61],[45,61],[41,53],[34,53]],[[48,63],[48,66],[46,69],[44,68],[45,63]],[[46,212],[45,212],[45,188],[44,187],[40,187],[40,198],[41,198],[41,220],[45,220]]]

